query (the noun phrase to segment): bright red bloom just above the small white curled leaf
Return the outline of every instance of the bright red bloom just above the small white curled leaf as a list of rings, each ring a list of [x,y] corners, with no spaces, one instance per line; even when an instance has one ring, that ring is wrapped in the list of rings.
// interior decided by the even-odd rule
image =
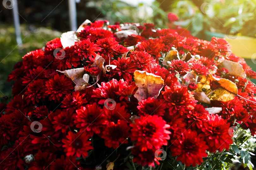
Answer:
[[[112,51],[114,46],[118,45],[118,42],[115,41],[113,38],[103,38],[103,39],[99,39],[96,42],[97,45],[99,45],[99,47],[101,47],[100,50],[100,54],[104,54],[106,56],[113,56]]]

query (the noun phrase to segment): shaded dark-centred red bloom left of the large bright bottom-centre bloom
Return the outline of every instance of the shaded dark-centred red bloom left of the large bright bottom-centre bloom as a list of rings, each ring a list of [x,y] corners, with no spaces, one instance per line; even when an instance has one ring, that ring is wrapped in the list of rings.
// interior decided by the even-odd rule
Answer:
[[[105,140],[107,147],[116,149],[119,145],[128,143],[126,138],[129,137],[129,130],[130,127],[126,121],[119,120],[117,124],[110,122],[107,124],[101,137]]]

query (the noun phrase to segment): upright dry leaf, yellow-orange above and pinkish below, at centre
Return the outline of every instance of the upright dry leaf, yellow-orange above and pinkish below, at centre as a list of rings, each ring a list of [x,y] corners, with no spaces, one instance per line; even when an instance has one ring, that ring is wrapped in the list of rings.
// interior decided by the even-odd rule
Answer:
[[[139,70],[134,72],[134,80],[135,84],[138,86],[134,97],[136,97],[138,101],[142,101],[148,97],[154,97],[156,99],[164,84],[164,80],[161,76]]]

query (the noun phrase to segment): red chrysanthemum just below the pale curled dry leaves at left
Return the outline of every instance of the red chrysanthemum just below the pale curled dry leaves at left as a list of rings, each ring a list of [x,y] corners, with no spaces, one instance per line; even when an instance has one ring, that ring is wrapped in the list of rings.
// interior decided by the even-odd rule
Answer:
[[[70,112],[74,112],[74,110],[80,108],[82,104],[87,103],[87,100],[84,99],[85,94],[80,96],[79,91],[75,91],[69,95],[67,95],[62,101],[61,107],[70,110]]]

